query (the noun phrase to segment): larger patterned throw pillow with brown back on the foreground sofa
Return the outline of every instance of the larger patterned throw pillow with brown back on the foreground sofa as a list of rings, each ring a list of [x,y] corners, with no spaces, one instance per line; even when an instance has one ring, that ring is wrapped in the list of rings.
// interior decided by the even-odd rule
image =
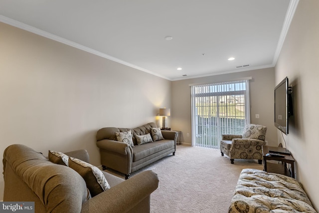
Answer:
[[[69,158],[69,167],[82,176],[92,197],[111,188],[99,168],[72,157]]]

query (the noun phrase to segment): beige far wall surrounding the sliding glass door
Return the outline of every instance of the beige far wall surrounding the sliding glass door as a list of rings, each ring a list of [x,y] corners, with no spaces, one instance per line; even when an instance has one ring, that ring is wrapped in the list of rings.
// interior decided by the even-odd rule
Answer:
[[[266,140],[269,145],[277,146],[277,131],[274,126],[274,68],[214,75],[202,78],[178,80],[172,82],[172,124],[174,130],[183,133],[183,143],[191,144],[191,109],[189,84],[217,83],[252,77],[250,80],[251,123],[267,126]],[[256,118],[259,114],[259,118]],[[189,133],[189,137],[187,137]]]

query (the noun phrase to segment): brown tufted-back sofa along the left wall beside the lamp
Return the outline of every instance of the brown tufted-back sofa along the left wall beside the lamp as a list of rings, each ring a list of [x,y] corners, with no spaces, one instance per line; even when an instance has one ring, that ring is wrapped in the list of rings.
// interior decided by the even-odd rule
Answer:
[[[161,131],[163,140],[142,145],[137,144],[137,135],[151,133],[151,128],[157,128],[155,123],[148,123],[134,129],[106,127],[97,132],[97,146],[100,148],[103,169],[111,168],[125,175],[145,167],[169,154],[175,155],[177,132]],[[131,130],[134,147],[117,141],[116,132]]]

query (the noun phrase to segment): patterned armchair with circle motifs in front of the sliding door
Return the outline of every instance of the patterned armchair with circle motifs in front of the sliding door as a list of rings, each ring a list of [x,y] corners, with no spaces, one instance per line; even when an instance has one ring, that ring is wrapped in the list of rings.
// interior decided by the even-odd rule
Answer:
[[[227,155],[231,164],[234,159],[256,159],[262,163],[262,146],[266,145],[267,127],[257,124],[248,124],[243,135],[222,135],[220,141],[221,155]]]

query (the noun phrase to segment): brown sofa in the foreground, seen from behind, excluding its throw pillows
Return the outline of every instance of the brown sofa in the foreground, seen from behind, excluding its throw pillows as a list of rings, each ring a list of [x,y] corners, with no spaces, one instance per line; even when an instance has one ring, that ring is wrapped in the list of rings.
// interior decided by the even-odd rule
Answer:
[[[64,153],[88,162],[86,150]],[[73,169],[54,164],[24,145],[3,153],[3,201],[34,202],[36,213],[149,213],[150,195],[159,179],[152,171],[123,180],[103,172],[110,189],[91,198],[86,182]]]

